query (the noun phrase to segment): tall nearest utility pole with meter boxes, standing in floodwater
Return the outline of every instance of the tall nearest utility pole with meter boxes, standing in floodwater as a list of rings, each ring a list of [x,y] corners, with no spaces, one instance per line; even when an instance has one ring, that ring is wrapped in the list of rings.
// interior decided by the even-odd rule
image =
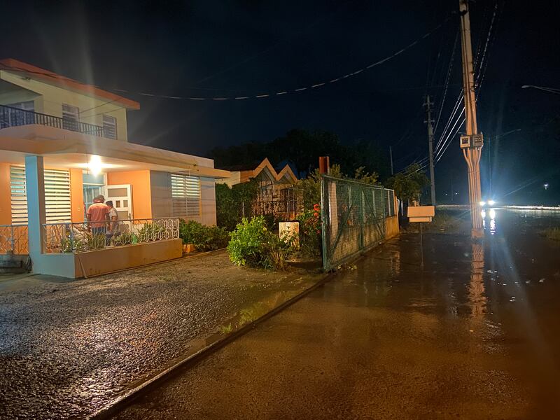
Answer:
[[[480,155],[482,133],[477,129],[477,104],[475,97],[475,71],[472,69],[472,45],[470,43],[470,19],[468,0],[459,0],[461,15],[461,55],[463,59],[463,92],[465,94],[466,135],[461,136],[461,150],[468,166],[468,201],[470,204],[470,236],[484,237],[482,228],[482,193],[480,192]]]

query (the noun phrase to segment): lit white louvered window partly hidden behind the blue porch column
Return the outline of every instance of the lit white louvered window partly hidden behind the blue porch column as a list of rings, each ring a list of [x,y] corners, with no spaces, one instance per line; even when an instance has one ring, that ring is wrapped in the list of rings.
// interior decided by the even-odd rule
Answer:
[[[70,173],[59,169],[45,169],[45,213],[47,223],[71,222]],[[27,190],[25,167],[10,167],[12,223],[27,224]]]

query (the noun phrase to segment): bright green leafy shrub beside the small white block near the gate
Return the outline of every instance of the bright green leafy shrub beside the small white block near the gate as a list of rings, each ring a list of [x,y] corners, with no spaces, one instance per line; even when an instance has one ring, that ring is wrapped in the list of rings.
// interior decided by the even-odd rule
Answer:
[[[231,233],[230,260],[236,265],[283,269],[292,251],[292,241],[282,240],[266,226],[263,216],[244,218]]]

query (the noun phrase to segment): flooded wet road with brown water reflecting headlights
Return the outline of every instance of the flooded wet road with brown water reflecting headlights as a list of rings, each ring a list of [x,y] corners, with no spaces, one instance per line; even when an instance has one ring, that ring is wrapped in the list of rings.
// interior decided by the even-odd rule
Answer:
[[[403,235],[118,419],[556,418],[560,246],[536,233],[553,222],[424,235],[424,269]]]

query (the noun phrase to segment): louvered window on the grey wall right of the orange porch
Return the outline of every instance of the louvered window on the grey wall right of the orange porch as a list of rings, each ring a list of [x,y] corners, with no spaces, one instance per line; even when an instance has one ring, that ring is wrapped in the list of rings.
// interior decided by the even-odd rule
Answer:
[[[171,174],[171,193],[174,217],[200,216],[200,178]]]

